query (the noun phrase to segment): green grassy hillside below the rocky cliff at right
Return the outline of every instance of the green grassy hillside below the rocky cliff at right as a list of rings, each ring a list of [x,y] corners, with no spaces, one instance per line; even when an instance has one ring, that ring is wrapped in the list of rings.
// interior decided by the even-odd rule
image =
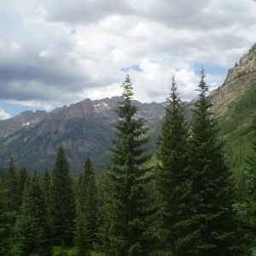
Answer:
[[[252,154],[252,114],[256,112],[256,84],[229,105],[228,110],[219,119],[220,136],[225,142],[225,156],[234,172],[241,177],[245,158]]]

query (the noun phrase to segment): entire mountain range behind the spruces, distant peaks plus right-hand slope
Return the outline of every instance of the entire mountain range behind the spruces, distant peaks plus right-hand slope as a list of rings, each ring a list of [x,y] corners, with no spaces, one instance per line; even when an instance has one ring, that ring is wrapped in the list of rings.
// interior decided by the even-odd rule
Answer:
[[[224,84],[212,90],[209,99],[212,112],[219,120],[220,136],[225,142],[227,160],[239,177],[244,159],[251,153],[253,137],[251,115],[256,112],[256,44],[247,55],[243,55],[227,73]],[[57,148],[65,148],[67,159],[73,172],[79,172],[87,155],[90,155],[96,168],[106,163],[108,146],[114,137],[111,124],[117,120],[113,109],[119,96],[82,102],[55,108],[51,112],[22,112],[14,118],[0,121],[0,160],[7,166],[10,156],[19,168],[25,165],[29,172],[45,167],[51,171]],[[150,127],[151,143],[148,149],[154,152],[154,139],[160,133],[160,123],[165,115],[165,102],[141,103],[137,105],[137,117],[146,120]],[[193,102],[186,103],[186,117]]]

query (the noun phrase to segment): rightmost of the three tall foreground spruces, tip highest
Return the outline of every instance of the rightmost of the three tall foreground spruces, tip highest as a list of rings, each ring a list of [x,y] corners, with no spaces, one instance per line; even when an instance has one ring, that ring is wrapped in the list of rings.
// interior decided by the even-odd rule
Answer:
[[[236,224],[232,204],[236,195],[232,173],[225,165],[223,143],[218,137],[218,121],[212,118],[207,98],[204,70],[198,85],[199,100],[193,109],[194,121],[189,140],[189,175],[192,181],[188,219],[187,255],[236,255]]]

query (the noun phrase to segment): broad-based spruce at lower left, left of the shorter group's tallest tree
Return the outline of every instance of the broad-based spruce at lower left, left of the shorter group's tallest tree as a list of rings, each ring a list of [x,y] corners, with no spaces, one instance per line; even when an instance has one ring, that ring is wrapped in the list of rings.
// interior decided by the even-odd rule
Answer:
[[[26,182],[21,214],[17,218],[15,237],[19,255],[51,255],[49,226],[37,172]]]

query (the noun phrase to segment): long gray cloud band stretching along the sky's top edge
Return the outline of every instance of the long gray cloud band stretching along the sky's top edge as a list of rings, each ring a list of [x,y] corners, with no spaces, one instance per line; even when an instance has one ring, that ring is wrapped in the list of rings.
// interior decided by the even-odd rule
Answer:
[[[44,4],[46,19],[73,25],[95,23],[108,15],[137,15],[180,29],[214,30],[234,24],[247,27],[255,21],[250,6],[244,1],[227,0],[159,0],[148,1],[148,9],[139,9],[141,3],[129,4],[125,0],[73,0],[51,1]],[[137,6],[137,8],[136,8]],[[241,22],[242,20],[242,22]]]

